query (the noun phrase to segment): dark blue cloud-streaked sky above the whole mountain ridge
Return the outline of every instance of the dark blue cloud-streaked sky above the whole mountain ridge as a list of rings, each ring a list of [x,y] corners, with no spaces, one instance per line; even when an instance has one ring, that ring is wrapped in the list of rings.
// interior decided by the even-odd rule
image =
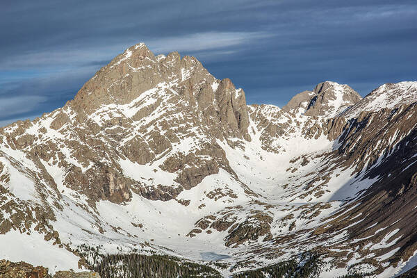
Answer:
[[[0,125],[63,106],[133,44],[196,56],[249,104],[417,80],[417,1],[0,0]]]

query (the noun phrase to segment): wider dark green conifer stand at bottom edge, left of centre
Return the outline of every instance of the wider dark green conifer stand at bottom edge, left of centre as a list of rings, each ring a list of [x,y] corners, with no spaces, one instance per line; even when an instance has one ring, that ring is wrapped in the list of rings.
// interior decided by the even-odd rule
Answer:
[[[166,255],[110,254],[94,266],[101,278],[222,277],[207,266]]]

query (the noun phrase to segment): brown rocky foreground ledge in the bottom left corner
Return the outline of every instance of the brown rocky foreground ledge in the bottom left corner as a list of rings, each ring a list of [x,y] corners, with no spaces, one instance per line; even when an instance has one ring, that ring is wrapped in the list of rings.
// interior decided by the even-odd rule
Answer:
[[[55,275],[49,275],[48,268],[33,266],[21,261],[0,260],[0,278],[100,278],[97,272],[58,271]]]

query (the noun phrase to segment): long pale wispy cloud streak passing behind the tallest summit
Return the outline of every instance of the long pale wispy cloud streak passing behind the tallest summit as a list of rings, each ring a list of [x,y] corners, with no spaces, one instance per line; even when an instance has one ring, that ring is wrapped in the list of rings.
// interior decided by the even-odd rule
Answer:
[[[166,54],[171,51],[187,53],[204,53],[211,51],[210,56],[232,54],[237,47],[250,45],[255,40],[270,38],[272,34],[265,32],[206,32],[189,35],[177,35],[164,38],[142,40],[155,54]],[[136,44],[139,41],[132,42]],[[6,57],[0,60],[0,71],[49,67],[65,70],[69,67],[91,65],[99,61],[111,60],[131,44],[106,44],[95,47],[76,49],[72,45],[60,47],[53,51],[31,51]],[[222,51],[215,51],[222,49]],[[208,55],[206,55],[207,57]]]

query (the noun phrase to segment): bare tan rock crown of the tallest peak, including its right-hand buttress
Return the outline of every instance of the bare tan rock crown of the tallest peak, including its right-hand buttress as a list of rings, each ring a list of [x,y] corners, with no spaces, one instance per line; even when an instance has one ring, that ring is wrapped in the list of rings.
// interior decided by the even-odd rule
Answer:
[[[193,114],[202,113],[208,121],[217,119],[216,125],[225,125],[227,136],[250,140],[243,90],[236,89],[230,79],[215,79],[195,57],[181,58],[177,51],[154,56],[142,43],[129,47],[102,67],[83,85],[70,106],[85,120],[92,115],[102,118],[99,114],[108,111],[142,118],[148,115],[145,111],[182,107],[183,103],[193,109]]]

